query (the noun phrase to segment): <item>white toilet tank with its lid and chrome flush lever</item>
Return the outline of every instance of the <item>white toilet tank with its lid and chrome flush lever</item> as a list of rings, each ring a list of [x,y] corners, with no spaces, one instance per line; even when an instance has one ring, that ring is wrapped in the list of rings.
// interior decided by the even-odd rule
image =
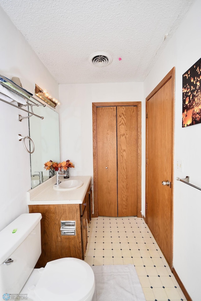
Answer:
[[[41,214],[25,213],[0,232],[0,298],[18,294],[41,255]],[[12,263],[5,264],[11,258]]]

